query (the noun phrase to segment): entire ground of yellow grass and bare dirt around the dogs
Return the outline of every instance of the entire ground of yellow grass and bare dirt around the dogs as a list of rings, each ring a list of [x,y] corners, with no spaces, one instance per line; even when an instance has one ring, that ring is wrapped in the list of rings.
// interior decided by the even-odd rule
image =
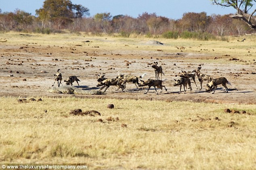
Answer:
[[[97,170],[254,170],[256,86],[251,73],[256,72],[256,38],[237,39],[243,37],[229,37],[228,42],[157,39],[166,44],[159,46],[147,44],[153,39],[145,37],[1,33],[0,163],[86,163]],[[82,43],[86,40],[90,43]],[[231,57],[243,62],[229,61]],[[148,94],[134,91],[132,84],[126,92],[110,87],[97,96],[47,92],[58,68],[64,79],[77,75],[85,89],[97,89],[96,73],[114,78],[117,71],[147,72],[145,79],[154,78],[147,65],[153,61],[163,66],[168,79],[163,94],[156,95],[153,88]],[[222,93],[218,86],[215,94],[206,93],[192,84],[192,92],[178,94],[172,79],[199,63],[203,72],[225,76],[233,84],[230,92]],[[114,109],[107,109],[108,104]],[[225,113],[227,108],[240,113]],[[74,109],[101,116],[71,115]]]

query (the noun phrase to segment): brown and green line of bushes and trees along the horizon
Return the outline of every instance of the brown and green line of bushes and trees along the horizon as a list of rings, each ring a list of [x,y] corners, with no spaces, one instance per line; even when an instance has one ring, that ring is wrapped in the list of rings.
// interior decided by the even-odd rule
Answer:
[[[58,1],[58,0],[57,0]],[[57,1],[46,0],[44,6],[36,10],[36,16],[23,11],[1,12],[0,31],[19,31],[26,33],[61,33],[68,30],[73,33],[85,32],[92,35],[114,35],[129,37],[146,35],[147,37],[163,37],[176,39],[216,39],[227,35],[243,35],[253,30],[239,20],[228,15],[207,16],[206,12],[187,12],[178,20],[157,16],[144,12],[133,18],[127,15],[111,16],[110,13],[98,13],[90,17],[89,9],[81,5],[64,4],[58,9]],[[54,3],[56,9],[51,6]],[[60,0],[63,2],[63,0]]]

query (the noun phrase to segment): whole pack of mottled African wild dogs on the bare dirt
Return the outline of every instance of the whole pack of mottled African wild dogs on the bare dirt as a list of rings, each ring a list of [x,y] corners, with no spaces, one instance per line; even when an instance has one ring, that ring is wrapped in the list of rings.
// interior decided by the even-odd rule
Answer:
[[[163,79],[162,80],[162,75],[165,76],[164,72],[163,72],[163,68],[162,66],[157,66],[158,62],[154,62],[152,64],[152,68],[155,71],[155,79],[149,78],[148,80],[141,80],[144,76],[146,76],[146,73],[142,74],[141,76],[137,77],[134,75],[130,75],[130,74],[120,74],[120,72],[118,72],[118,76],[116,78],[105,78],[105,75],[100,76],[99,74],[96,74],[98,79],[97,79],[97,87],[100,87],[100,91],[103,90],[105,88],[105,90],[103,92],[105,92],[110,86],[117,86],[118,89],[121,89],[121,92],[124,92],[126,89],[126,83],[132,83],[136,86],[137,90],[138,88],[142,88],[144,86],[148,86],[147,92],[149,91],[149,89],[153,86],[155,88],[155,92],[158,94],[156,88],[160,88],[161,92],[163,91],[163,88],[165,88],[165,90],[167,91],[166,87],[162,84],[163,82],[165,82],[167,79]],[[218,85],[222,85],[223,87],[225,87],[225,92],[228,92],[228,88],[227,88],[227,84],[231,85],[231,83],[227,80],[227,78],[225,77],[220,77],[220,78],[215,78],[213,79],[212,76],[207,75],[207,74],[203,74],[200,72],[201,67],[198,67],[196,70],[193,70],[193,72],[186,72],[181,70],[182,72],[179,74],[180,79],[176,80],[174,79],[174,84],[173,86],[180,86],[180,91],[178,94],[181,93],[181,89],[182,86],[184,88],[184,93],[186,93],[187,91],[187,85],[189,86],[190,91],[192,91],[192,87],[191,87],[191,81],[193,80],[192,83],[195,83],[196,88],[197,84],[195,82],[195,76],[197,76],[199,83],[200,83],[200,88],[199,90],[202,89],[203,86],[203,82],[207,82],[206,84],[206,92],[212,92],[212,94],[215,93],[215,90],[217,88]],[[52,84],[52,86],[54,86],[55,82],[57,81],[58,83],[58,87],[60,86],[60,84],[62,85],[61,81],[62,81],[62,75],[59,72],[60,69],[57,70],[57,73],[54,74],[55,76],[55,81]],[[161,77],[160,77],[161,76]],[[73,86],[73,82],[79,82],[80,80],[77,78],[77,76],[69,76],[67,78],[67,80],[64,80],[64,82],[66,83],[66,85],[71,85]],[[78,87],[80,85],[78,84]],[[147,94],[147,92],[145,92],[145,94]]]

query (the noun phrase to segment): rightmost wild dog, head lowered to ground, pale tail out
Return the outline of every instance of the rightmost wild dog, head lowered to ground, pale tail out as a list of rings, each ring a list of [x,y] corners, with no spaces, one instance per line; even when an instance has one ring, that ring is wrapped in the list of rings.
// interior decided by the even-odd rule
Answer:
[[[212,92],[212,94],[215,93],[215,90],[217,88],[218,85],[222,85],[223,87],[225,87],[225,92],[228,92],[228,88],[226,84],[231,85],[231,83],[227,80],[227,78],[225,77],[220,77],[220,78],[216,78],[213,79],[212,81],[210,81],[208,84],[206,84],[206,92],[211,92],[212,90],[214,90]],[[232,85],[231,85],[232,86]]]

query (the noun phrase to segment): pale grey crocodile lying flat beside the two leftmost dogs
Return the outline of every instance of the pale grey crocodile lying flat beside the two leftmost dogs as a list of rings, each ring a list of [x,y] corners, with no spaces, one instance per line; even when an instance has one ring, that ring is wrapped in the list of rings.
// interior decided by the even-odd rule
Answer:
[[[61,94],[103,94],[103,92],[99,90],[82,90],[80,88],[76,88],[74,86],[60,86],[50,88],[48,92],[61,93]]]

